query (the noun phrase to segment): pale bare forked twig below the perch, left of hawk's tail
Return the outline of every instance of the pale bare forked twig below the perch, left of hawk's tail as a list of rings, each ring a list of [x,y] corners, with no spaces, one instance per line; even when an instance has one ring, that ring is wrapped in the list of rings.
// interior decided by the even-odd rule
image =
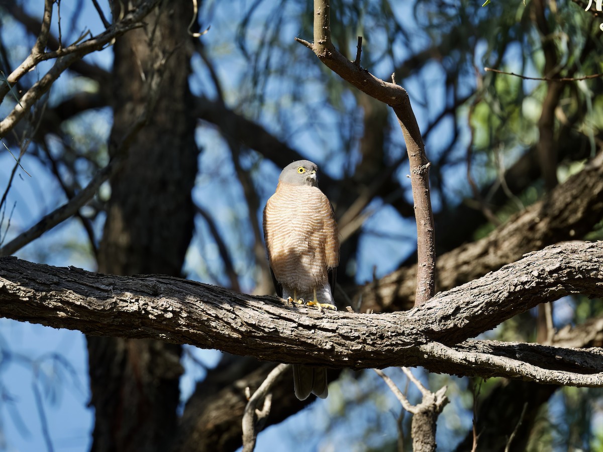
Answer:
[[[290,364],[279,364],[272,369],[264,380],[264,383],[257,388],[257,391],[253,393],[247,402],[243,415],[243,452],[252,452],[256,447],[257,433],[261,430],[268,413],[270,413],[272,402],[272,395],[269,394],[270,389],[274,386],[280,375],[290,367]],[[264,400],[264,406],[261,410],[258,410],[257,406],[262,400]]]

